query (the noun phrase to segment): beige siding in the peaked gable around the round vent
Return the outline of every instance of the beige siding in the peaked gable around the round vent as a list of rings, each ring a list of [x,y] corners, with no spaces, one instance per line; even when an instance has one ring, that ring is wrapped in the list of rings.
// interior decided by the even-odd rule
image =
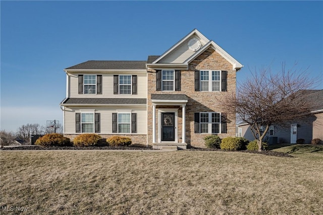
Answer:
[[[195,52],[188,48],[188,41],[192,39],[193,37],[198,38],[196,35],[191,36],[186,41],[183,42],[182,45],[177,47],[175,50],[173,50],[171,53],[168,54],[165,58],[158,61],[158,63],[182,63],[186,59],[188,59],[190,56],[192,56]],[[199,38],[198,38],[199,39]],[[203,40],[199,39],[201,43],[201,47],[205,45]]]

